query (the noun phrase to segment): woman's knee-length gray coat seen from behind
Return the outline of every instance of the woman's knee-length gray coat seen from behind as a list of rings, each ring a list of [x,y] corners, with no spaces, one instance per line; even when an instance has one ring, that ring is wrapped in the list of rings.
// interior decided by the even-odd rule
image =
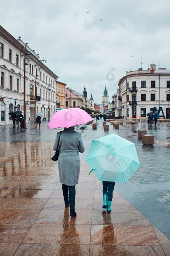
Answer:
[[[56,151],[60,132],[57,133],[53,149]],[[65,128],[59,140],[58,169],[60,182],[67,186],[78,184],[80,172],[79,152],[85,151],[84,143],[79,132],[73,128]]]

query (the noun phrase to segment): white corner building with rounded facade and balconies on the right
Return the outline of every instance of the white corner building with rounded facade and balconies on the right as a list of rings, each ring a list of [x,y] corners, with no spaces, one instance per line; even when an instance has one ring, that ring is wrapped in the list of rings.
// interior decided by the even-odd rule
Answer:
[[[126,72],[119,81],[119,116],[126,118],[146,117],[154,107],[162,107],[165,117],[169,111],[170,71],[150,69]],[[162,115],[162,112],[160,113]]]

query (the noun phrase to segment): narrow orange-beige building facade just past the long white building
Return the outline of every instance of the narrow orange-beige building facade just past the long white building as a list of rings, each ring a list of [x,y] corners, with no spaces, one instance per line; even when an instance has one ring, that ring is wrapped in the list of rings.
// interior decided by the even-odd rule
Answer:
[[[56,81],[56,107],[65,109],[65,83]]]

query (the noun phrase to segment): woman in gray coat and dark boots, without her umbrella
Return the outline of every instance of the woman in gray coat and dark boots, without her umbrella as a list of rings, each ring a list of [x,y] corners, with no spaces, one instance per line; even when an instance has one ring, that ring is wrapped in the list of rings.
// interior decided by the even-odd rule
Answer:
[[[65,207],[70,205],[70,216],[76,216],[75,185],[78,184],[80,172],[79,152],[83,153],[85,147],[81,134],[75,132],[74,127],[65,128],[63,132],[57,133],[53,146],[55,151],[57,149],[58,139],[60,148],[58,168]]]

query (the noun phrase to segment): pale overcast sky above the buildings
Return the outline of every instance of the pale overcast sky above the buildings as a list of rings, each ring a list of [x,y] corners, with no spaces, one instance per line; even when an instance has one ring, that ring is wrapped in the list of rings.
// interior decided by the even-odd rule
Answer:
[[[169,0],[0,0],[0,25],[21,36],[71,89],[109,101],[126,71],[170,70]],[[141,58],[142,57],[142,58]]]

